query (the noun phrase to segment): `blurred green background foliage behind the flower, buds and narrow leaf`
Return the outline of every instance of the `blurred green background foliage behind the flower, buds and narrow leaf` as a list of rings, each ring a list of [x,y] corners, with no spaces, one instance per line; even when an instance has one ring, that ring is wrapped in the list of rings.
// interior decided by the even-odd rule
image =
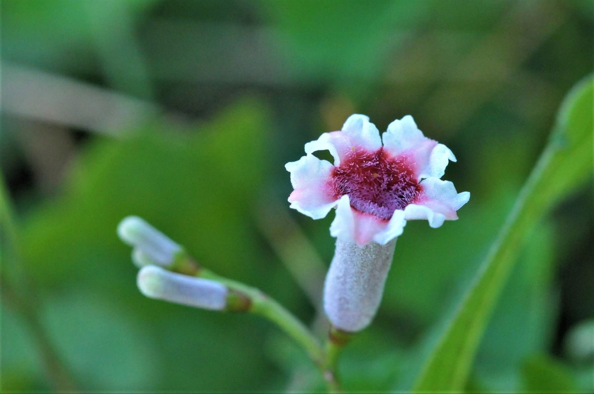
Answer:
[[[459,221],[407,224],[377,319],[341,361],[349,389],[407,387],[565,93],[593,69],[588,0],[3,0],[0,11],[0,164],[18,250],[2,253],[11,392],[321,389],[270,323],[143,297],[115,228],[140,215],[319,323],[334,214],[291,211],[283,166],[351,113],[380,131],[413,115],[456,154],[445,179],[472,193]],[[592,190],[527,235],[469,389],[592,385]]]

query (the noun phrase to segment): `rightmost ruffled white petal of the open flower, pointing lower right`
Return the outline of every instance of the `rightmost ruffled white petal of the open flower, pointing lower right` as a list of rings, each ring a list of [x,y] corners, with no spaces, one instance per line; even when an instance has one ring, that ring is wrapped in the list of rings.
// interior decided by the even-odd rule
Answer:
[[[456,211],[470,199],[469,192],[456,192],[454,184],[448,180],[431,177],[420,185],[423,190],[414,204],[406,206],[405,219],[426,219],[433,228],[441,227],[445,220],[456,220]]]

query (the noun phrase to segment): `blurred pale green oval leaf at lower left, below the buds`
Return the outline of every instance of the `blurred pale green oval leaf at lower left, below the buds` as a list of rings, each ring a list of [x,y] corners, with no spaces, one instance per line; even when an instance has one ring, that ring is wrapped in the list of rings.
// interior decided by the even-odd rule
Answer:
[[[48,297],[44,312],[50,336],[83,387],[150,390],[159,381],[163,365],[156,344],[146,340],[150,329],[126,307],[72,286]]]

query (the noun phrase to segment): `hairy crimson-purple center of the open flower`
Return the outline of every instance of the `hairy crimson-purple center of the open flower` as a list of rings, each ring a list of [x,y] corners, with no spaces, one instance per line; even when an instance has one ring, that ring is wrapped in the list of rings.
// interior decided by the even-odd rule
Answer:
[[[391,157],[384,148],[353,150],[334,167],[329,186],[334,197],[349,195],[353,208],[384,220],[413,202],[421,191],[406,160]]]

